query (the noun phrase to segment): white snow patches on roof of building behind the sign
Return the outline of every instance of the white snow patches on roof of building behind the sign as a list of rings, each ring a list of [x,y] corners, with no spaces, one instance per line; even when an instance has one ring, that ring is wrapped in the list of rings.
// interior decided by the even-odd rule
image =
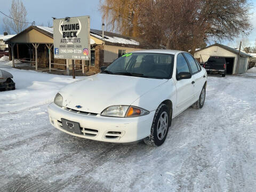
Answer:
[[[47,31],[48,33],[53,34],[53,28],[43,27],[43,26],[36,26],[36,27],[38,27],[39,29]],[[91,30],[94,31],[94,32],[95,31],[100,31],[100,30],[95,30],[95,29],[91,29]],[[109,33],[109,32],[106,31],[106,33]],[[102,37],[100,35],[97,35],[97,34],[94,34],[94,33],[90,33],[90,34],[92,36],[96,37],[96,38],[102,39]],[[114,33],[111,33],[111,34],[115,35]],[[117,36],[119,36],[119,37],[117,37]],[[112,37],[105,36],[104,41],[107,41],[107,42],[110,42],[110,43],[119,43],[119,44],[128,44],[128,45],[140,45],[139,42],[134,41],[131,38],[122,38],[121,35],[119,35],[119,34],[116,34],[116,36],[112,36]],[[91,44],[95,44],[93,39],[91,39],[90,42],[91,42]]]

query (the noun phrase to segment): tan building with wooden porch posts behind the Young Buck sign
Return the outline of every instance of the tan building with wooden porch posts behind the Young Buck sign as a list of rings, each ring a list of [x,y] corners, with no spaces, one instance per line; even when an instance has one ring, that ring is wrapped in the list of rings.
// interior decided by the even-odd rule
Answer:
[[[102,30],[90,30],[91,59],[75,60],[77,74],[98,73],[121,55],[146,48],[136,39]],[[31,62],[36,70],[69,74],[70,59],[54,59],[53,28],[30,26],[5,41],[9,45],[9,57]],[[49,63],[51,63],[49,65]],[[14,65],[14,63],[13,63]],[[71,73],[70,73],[71,74]]]

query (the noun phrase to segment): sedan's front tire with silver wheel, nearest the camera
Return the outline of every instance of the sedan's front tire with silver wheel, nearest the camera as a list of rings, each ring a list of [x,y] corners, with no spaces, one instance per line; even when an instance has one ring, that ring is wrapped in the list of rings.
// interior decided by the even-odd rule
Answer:
[[[171,117],[168,107],[165,104],[159,105],[151,125],[150,135],[144,139],[147,145],[161,146],[164,143],[171,126]]]

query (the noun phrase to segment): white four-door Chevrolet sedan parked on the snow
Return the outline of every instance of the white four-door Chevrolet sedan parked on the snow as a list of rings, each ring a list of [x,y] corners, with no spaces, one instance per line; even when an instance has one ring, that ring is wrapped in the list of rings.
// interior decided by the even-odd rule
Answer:
[[[172,118],[202,108],[207,73],[187,52],[141,50],[71,83],[48,107],[50,122],[76,137],[164,143]]]

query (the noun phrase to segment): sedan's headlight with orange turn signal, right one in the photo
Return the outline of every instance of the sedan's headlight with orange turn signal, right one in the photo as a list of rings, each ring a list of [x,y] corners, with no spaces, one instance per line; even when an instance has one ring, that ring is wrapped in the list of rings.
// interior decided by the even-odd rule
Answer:
[[[149,114],[149,111],[133,106],[111,106],[102,111],[102,116],[138,117]]]

